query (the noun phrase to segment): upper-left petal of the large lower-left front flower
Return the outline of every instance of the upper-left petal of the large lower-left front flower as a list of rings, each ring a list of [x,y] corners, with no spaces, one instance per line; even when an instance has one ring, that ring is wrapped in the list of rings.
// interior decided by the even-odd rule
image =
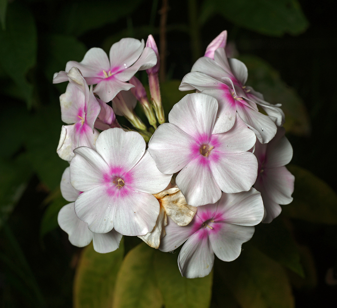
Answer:
[[[103,184],[103,174],[109,172],[108,164],[94,150],[81,146],[74,149],[70,162],[70,182],[79,191],[87,191]]]

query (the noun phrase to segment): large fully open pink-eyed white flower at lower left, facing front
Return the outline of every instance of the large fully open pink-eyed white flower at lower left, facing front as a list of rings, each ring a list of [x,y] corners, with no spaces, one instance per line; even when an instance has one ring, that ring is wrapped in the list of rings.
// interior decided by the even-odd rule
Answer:
[[[112,128],[98,136],[96,151],[79,147],[74,152],[71,185],[83,191],[75,212],[89,229],[106,233],[114,228],[124,235],[152,231],[159,214],[159,202],[152,194],[162,191],[172,174],[157,169],[143,137]]]

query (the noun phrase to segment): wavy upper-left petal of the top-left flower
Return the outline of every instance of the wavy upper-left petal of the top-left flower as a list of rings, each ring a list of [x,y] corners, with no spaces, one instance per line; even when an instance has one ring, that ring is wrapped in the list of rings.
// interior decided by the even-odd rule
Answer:
[[[69,72],[71,67],[77,67],[84,77],[103,78],[103,70],[109,71],[110,63],[105,51],[101,48],[90,48],[81,62],[68,61],[65,67]],[[86,78],[88,84],[90,83]]]

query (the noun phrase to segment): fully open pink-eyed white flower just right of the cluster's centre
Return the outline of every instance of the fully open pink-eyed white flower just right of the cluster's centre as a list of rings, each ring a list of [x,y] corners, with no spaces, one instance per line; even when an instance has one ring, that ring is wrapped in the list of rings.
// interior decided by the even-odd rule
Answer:
[[[158,169],[179,172],[176,184],[192,206],[214,203],[221,191],[248,191],[255,182],[257,160],[247,152],[255,134],[237,119],[231,130],[214,133],[218,103],[203,93],[187,94],[168,115],[149,142]]]

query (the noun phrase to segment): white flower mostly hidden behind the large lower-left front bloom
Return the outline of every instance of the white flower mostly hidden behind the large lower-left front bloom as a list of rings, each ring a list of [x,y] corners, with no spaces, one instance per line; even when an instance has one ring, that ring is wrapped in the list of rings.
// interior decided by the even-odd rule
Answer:
[[[81,194],[70,184],[70,170],[67,167],[61,179],[61,193],[67,201],[75,201]],[[88,224],[79,219],[75,214],[74,202],[64,205],[57,216],[59,226],[68,233],[69,242],[77,247],[87,246],[93,242],[94,250],[99,253],[106,253],[116,250],[122,239],[122,234],[111,230],[108,233],[93,233],[88,229]]]

